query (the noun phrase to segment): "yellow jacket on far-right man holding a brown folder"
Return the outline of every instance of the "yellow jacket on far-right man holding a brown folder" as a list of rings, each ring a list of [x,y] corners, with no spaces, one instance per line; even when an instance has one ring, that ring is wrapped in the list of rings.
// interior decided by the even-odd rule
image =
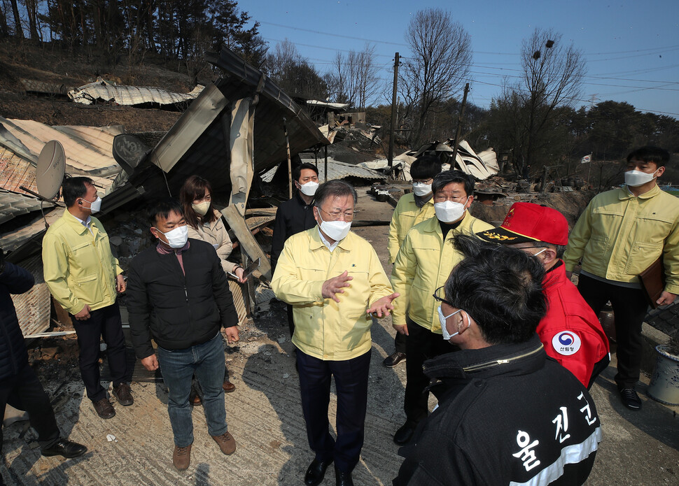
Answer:
[[[665,290],[679,294],[679,199],[660,190],[633,196],[626,187],[594,196],[575,223],[563,254],[566,270],[582,270],[617,282],[638,274],[660,255]]]

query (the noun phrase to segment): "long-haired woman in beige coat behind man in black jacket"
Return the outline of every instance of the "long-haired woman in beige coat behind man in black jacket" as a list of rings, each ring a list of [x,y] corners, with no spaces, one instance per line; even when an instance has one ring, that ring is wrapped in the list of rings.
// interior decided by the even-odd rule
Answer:
[[[200,176],[190,176],[181,187],[179,200],[184,210],[184,219],[188,226],[188,237],[210,243],[217,251],[225,272],[230,272],[238,277],[239,283],[244,283],[243,267],[237,263],[229,262],[233,243],[229,238],[228,231],[224,226],[221,214],[212,205],[212,187],[210,183]],[[233,392],[236,386],[229,381],[228,372],[224,374],[224,391]],[[190,403],[200,405],[201,399],[197,389],[192,387]]]

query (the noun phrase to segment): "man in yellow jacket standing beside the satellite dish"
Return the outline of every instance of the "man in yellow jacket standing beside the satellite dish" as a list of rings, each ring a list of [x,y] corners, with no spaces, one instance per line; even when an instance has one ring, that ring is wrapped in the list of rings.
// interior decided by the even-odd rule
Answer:
[[[91,179],[64,180],[66,210],[43,238],[43,273],[55,300],[73,317],[80,348],[80,374],[87,397],[104,419],[116,415],[99,383],[99,341],[109,357],[113,395],[123,406],[134,402],[125,383],[125,337],[116,292],[125,292],[123,270],[111,255],[109,236],[92,213],[102,205]]]

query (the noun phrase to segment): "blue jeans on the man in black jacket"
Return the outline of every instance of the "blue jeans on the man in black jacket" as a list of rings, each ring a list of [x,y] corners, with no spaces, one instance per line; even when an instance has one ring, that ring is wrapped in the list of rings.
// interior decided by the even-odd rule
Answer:
[[[195,373],[203,390],[203,410],[211,436],[221,436],[227,431],[224,406],[224,345],[222,335],[205,343],[183,350],[166,350],[158,347],[158,362],[167,394],[167,413],[172,424],[174,444],[186,447],[193,444],[193,420],[188,396],[191,378]]]

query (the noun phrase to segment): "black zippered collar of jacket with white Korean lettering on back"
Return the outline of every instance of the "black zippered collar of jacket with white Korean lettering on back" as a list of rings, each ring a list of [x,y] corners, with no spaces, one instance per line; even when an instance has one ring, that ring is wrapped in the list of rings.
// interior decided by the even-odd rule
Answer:
[[[442,381],[526,374],[545,365],[547,354],[537,334],[519,344],[498,344],[478,350],[460,350],[424,362],[424,373]]]

